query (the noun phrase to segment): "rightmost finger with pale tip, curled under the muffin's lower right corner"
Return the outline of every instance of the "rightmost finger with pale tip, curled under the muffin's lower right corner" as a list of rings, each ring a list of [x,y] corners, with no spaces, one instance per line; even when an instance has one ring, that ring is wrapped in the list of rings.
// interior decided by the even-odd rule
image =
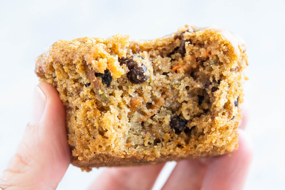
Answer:
[[[239,149],[213,159],[203,180],[203,189],[242,189],[253,156],[252,142],[239,130]]]

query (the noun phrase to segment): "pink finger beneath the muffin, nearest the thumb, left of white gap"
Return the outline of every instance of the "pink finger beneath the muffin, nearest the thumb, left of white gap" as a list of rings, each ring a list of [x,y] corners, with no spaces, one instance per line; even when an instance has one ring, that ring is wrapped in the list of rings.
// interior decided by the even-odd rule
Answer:
[[[164,164],[107,168],[92,183],[93,189],[151,189]]]

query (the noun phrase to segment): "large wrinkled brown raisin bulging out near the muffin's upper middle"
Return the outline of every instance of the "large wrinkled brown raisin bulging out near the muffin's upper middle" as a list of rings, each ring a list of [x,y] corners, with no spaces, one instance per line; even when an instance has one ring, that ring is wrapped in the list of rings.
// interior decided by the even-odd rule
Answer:
[[[147,71],[145,65],[139,66],[139,64],[133,59],[133,56],[129,58],[119,58],[118,61],[120,65],[126,64],[129,68],[127,73],[127,78],[131,81],[132,84],[143,84],[148,78],[148,75],[144,75]]]

